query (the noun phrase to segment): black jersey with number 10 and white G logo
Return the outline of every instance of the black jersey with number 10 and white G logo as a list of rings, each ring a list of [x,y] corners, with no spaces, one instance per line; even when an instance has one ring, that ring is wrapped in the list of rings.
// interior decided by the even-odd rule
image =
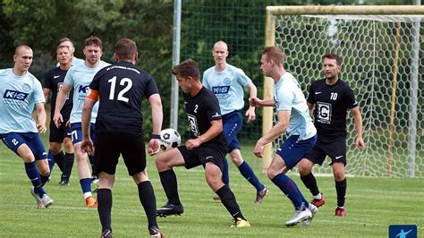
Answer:
[[[308,102],[315,104],[314,124],[318,137],[346,136],[347,110],[358,106],[347,83],[338,80],[326,85],[326,79],[312,82]]]

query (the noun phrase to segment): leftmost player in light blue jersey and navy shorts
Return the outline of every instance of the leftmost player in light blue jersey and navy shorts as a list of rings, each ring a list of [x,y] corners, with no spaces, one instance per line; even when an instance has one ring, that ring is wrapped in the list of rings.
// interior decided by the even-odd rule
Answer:
[[[50,170],[47,152],[38,132],[46,128],[45,98],[41,83],[28,70],[32,64],[32,49],[27,45],[16,47],[12,69],[0,70],[0,139],[7,148],[22,158],[25,172],[33,187],[31,195],[38,208],[53,204],[43,189]],[[31,114],[36,107],[37,122]]]

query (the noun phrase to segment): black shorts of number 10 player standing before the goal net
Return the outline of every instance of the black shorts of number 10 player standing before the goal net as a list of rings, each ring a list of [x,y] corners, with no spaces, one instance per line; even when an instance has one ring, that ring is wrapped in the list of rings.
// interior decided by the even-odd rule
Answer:
[[[343,136],[335,137],[334,139],[319,139],[313,149],[306,154],[306,158],[314,164],[322,166],[326,156],[331,158],[329,166],[334,162],[343,162],[346,165],[346,138]]]

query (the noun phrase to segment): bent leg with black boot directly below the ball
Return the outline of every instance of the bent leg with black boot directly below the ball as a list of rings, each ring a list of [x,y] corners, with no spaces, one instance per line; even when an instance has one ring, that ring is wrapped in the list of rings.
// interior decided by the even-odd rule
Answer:
[[[182,152],[180,149],[183,148]],[[174,166],[186,166],[184,157],[189,157],[192,151],[188,151],[184,146],[168,149],[156,159],[157,172],[159,173],[160,183],[164,188],[167,203],[161,208],[157,208],[157,216],[166,217],[168,215],[180,215],[184,209],[178,195],[178,183],[174,173]]]

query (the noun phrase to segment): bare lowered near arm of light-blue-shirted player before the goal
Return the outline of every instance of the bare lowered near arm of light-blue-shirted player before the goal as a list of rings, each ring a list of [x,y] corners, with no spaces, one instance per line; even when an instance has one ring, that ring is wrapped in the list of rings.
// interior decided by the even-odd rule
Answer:
[[[273,126],[271,131],[267,132],[258,140],[255,148],[253,149],[253,153],[256,157],[263,157],[264,146],[272,140],[276,140],[277,137],[287,130],[291,114],[292,111],[290,110],[282,110],[278,112],[278,122]]]

